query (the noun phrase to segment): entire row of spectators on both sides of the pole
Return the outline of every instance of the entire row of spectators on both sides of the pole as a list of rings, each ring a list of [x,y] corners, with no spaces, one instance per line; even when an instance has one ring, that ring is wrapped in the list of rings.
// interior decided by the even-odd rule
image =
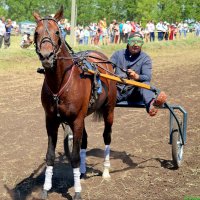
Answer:
[[[67,19],[62,19],[59,22],[59,27],[63,38],[66,40],[67,34],[70,34],[70,23]],[[13,28],[11,19],[5,20],[5,17],[1,18],[0,48],[2,47],[3,41],[4,48],[10,46],[10,36]],[[75,27],[75,37],[76,43],[80,45],[108,45],[112,43],[127,43],[129,35],[134,32],[141,33],[145,42],[154,42],[155,40],[162,41],[187,38],[187,33],[189,31],[191,30],[187,21],[170,24],[162,20],[158,23],[154,23],[154,21],[151,20],[147,22],[147,24],[142,25],[140,22],[135,21],[125,22],[122,20],[118,22],[117,20],[113,20],[110,24],[107,24],[106,18],[104,18],[99,20],[98,23],[90,23],[87,26],[78,25]],[[194,31],[195,36],[200,36],[200,21],[194,23],[192,31]],[[28,33],[23,34],[28,35]]]

